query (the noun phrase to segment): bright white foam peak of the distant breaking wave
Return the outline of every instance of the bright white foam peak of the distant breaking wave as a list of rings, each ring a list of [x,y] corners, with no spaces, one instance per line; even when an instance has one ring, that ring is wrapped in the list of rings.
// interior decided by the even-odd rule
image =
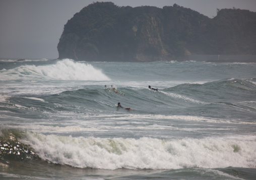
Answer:
[[[63,59],[56,64],[47,66],[27,65],[24,68],[37,74],[59,80],[92,80],[108,81],[110,80],[101,70],[95,69],[90,64],[74,62],[70,59]]]

